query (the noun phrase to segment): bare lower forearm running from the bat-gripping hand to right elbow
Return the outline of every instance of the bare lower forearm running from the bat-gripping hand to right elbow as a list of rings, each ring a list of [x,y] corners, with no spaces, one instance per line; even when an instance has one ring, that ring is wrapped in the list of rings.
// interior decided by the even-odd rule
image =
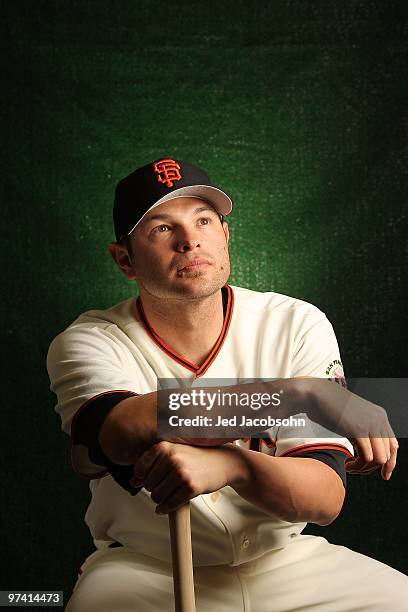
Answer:
[[[272,457],[233,448],[229,485],[247,501],[288,522],[328,525],[339,514],[345,497],[340,477],[315,459]]]

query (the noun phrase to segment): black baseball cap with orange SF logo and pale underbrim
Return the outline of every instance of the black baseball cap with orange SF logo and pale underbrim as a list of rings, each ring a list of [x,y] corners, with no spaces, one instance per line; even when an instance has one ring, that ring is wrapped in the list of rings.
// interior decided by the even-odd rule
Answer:
[[[186,196],[202,198],[220,215],[228,215],[232,210],[229,195],[212,185],[208,174],[193,164],[163,157],[137,168],[116,186],[113,205],[116,240],[128,236],[155,206]]]

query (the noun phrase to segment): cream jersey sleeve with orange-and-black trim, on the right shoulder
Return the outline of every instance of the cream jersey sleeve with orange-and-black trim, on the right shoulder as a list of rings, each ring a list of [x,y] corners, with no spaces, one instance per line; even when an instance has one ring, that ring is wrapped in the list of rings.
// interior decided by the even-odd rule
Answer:
[[[298,323],[291,376],[327,378],[339,384],[345,384],[333,327],[324,313],[317,308],[311,307]],[[354,456],[353,446],[347,438],[337,437],[333,432],[311,421],[304,413],[296,416],[301,418],[304,424],[278,428],[275,456],[306,456],[305,453],[307,456],[312,456],[311,453],[315,453],[316,459],[323,460],[327,456],[321,453],[326,452],[336,453],[336,462],[341,456],[338,453],[343,454],[344,461]]]

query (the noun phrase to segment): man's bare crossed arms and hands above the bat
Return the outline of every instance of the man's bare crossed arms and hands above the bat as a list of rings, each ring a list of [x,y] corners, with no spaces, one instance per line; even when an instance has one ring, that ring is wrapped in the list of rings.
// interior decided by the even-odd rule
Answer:
[[[358,457],[350,471],[381,466],[384,479],[395,467],[398,443],[385,411],[337,385],[320,379],[286,379],[267,383],[285,387],[283,416],[307,412],[324,426],[355,433]],[[234,446],[229,439],[157,438],[157,393],[119,402],[104,420],[99,444],[110,461],[134,465],[131,484],[144,486],[156,511],[176,510],[202,493],[231,486],[268,514],[290,522],[331,523],[345,497],[340,476],[307,457],[274,457]],[[370,437],[369,432],[381,432]]]

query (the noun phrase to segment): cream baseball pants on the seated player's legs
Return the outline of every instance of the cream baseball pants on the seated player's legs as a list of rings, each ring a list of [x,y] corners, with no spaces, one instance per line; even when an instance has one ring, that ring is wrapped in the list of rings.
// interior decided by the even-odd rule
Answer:
[[[82,565],[68,612],[173,612],[171,565],[125,548]],[[197,612],[407,612],[408,577],[325,538],[231,567],[196,567]]]

